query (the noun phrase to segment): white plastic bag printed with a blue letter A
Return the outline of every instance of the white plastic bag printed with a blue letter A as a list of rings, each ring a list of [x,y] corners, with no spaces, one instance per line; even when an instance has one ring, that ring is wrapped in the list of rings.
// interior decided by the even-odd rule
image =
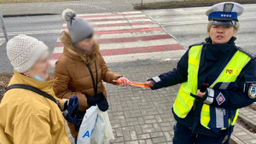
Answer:
[[[97,106],[92,106],[86,110],[79,129],[78,144],[91,144],[91,134],[96,125],[97,113]]]

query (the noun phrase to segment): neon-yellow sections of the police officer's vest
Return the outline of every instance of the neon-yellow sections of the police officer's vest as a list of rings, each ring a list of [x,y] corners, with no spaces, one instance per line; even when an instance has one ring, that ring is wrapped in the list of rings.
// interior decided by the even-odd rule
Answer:
[[[188,81],[181,85],[173,105],[173,110],[179,118],[185,118],[194,105],[195,98],[190,96],[190,93],[196,95],[197,92],[197,74],[200,66],[201,48],[202,45],[196,45],[189,49]],[[220,73],[210,87],[213,88],[218,82],[235,82],[241,69],[246,66],[249,60],[251,60],[251,58],[248,55],[237,50],[227,66],[225,66],[223,72]],[[236,116],[229,119],[230,125],[236,123],[237,116],[238,110],[236,111]],[[209,122],[210,107],[209,105],[204,104],[201,109],[201,124],[209,129],[207,126]]]

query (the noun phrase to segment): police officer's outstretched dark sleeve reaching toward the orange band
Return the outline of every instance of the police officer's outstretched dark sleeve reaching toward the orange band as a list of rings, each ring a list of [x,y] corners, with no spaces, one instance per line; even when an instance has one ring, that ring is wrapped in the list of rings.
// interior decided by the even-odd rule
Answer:
[[[150,79],[154,82],[154,87],[151,89],[160,89],[186,82],[188,80],[188,60],[189,50],[177,62],[177,68]]]

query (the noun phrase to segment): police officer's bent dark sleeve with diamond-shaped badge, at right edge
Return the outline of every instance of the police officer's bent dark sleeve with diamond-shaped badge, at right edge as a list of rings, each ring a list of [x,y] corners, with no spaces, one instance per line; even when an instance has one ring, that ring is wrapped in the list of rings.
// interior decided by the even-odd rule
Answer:
[[[256,87],[256,63],[252,60],[247,68],[237,78],[236,82],[218,83],[213,89],[207,89],[204,102],[213,107],[241,108],[256,101],[253,95],[253,85]]]

